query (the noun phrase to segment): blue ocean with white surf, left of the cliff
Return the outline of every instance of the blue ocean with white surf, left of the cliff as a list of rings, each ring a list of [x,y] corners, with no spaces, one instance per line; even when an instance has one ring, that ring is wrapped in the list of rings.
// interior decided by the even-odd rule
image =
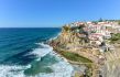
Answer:
[[[70,77],[73,67],[47,45],[57,28],[0,29],[0,77]]]

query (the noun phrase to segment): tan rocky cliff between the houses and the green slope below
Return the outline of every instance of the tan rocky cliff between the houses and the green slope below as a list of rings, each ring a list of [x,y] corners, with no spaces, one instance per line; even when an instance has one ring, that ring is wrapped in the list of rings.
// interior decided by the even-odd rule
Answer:
[[[54,47],[54,50],[62,48],[79,54],[80,56],[92,61],[95,66],[96,64],[102,62],[99,58],[101,54],[97,46],[94,47],[89,44],[88,32],[84,30],[85,26],[85,24],[73,28],[65,25],[62,29],[62,33],[55,40],[52,40],[50,44]],[[98,67],[98,65],[96,65],[96,67]],[[96,70],[94,70],[94,77],[99,75],[97,75]]]

